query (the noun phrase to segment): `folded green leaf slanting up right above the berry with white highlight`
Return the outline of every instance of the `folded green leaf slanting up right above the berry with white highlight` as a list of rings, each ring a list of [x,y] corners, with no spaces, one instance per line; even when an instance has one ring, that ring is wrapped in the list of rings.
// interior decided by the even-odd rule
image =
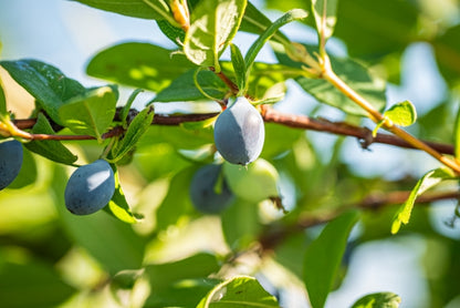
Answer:
[[[113,160],[115,161],[121,160],[136,145],[139,138],[144,135],[144,133],[151,125],[154,115],[155,115],[154,109],[146,107],[142,112],[139,112],[136,115],[136,117],[134,117],[123,140],[119,141],[119,143],[113,151]]]

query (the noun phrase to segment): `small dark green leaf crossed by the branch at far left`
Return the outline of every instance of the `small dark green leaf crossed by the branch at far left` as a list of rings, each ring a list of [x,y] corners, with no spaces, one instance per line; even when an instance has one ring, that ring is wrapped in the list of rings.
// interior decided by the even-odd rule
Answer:
[[[36,123],[32,127],[33,134],[54,134],[53,129],[51,127],[50,122],[43,115],[39,113],[36,117]],[[53,162],[71,165],[73,164],[77,156],[75,156],[71,151],[69,151],[60,141],[56,140],[44,140],[44,141],[31,141],[24,143],[24,146],[43,157],[46,157]]]

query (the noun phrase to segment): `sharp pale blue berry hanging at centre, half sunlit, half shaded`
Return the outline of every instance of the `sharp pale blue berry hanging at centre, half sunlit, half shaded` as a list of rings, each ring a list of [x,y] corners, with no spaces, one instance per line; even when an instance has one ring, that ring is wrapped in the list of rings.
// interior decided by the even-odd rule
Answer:
[[[216,120],[216,147],[229,163],[248,165],[255,161],[264,138],[263,119],[244,96],[238,97]]]

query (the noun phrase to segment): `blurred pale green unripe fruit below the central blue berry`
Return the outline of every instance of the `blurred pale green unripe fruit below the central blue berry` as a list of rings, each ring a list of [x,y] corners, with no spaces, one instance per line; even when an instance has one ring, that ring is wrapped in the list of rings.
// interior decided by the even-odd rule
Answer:
[[[230,189],[242,199],[259,203],[279,196],[278,171],[265,160],[255,160],[247,167],[224,163],[223,174]]]

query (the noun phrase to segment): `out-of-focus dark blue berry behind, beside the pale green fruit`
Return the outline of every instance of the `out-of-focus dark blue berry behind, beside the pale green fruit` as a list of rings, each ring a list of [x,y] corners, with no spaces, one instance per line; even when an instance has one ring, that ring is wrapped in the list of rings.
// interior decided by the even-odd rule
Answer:
[[[220,165],[206,165],[191,178],[191,203],[201,213],[218,214],[234,199],[223,177],[220,177]],[[219,179],[222,182],[218,182]]]

